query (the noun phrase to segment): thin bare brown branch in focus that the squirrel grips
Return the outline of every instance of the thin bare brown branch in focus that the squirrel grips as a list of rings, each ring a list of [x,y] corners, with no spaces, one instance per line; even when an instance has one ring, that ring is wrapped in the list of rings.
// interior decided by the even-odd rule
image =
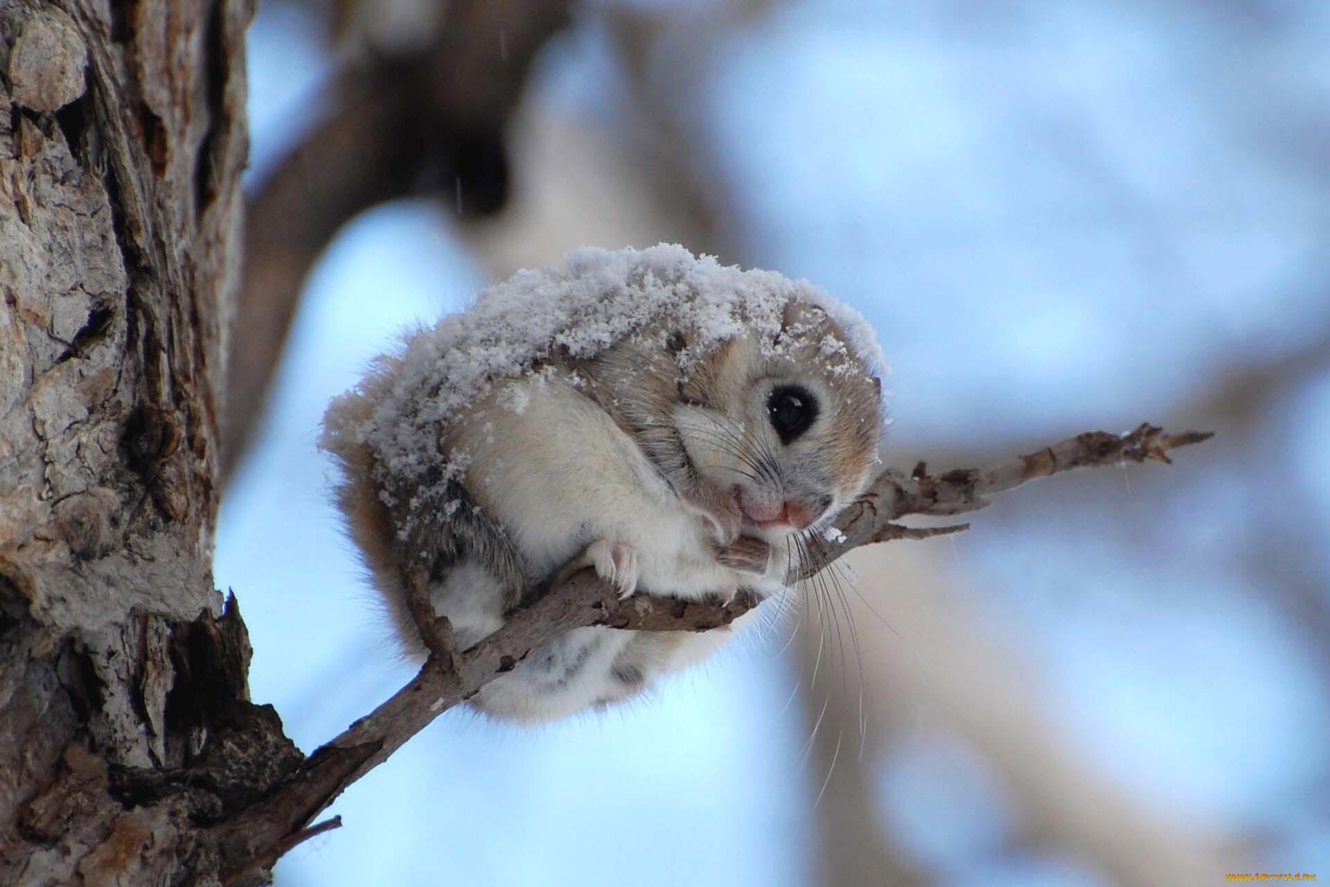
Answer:
[[[914,529],[892,524],[895,519],[976,511],[988,504],[988,495],[1072,468],[1115,465],[1124,460],[1169,461],[1169,449],[1209,436],[1197,432],[1168,435],[1161,428],[1142,424],[1125,435],[1103,431],[1077,435],[987,468],[964,468],[932,476],[920,463],[908,477],[888,468],[878,476],[868,493],[841,516],[835,531],[826,533],[826,557],[793,573],[791,584],[859,545],[964,529],[964,525]],[[426,608],[420,606],[424,601],[423,576],[411,576],[407,581],[419,598],[414,608],[414,612],[420,610],[418,621],[424,621],[420,618],[426,613]],[[218,843],[234,868],[243,868],[250,859],[271,856],[283,842],[301,834],[347,786],[386,761],[440,713],[469,699],[551,638],[595,625],[641,632],[721,629],[759,602],[754,594],[742,592],[728,602],[658,596],[620,600],[616,589],[598,580],[592,570],[581,570],[529,606],[511,613],[497,632],[460,653],[452,650],[451,638],[440,630],[439,621],[428,621],[423,634],[434,652],[415,678],[342,735],[315,750],[265,799],[218,826]]]

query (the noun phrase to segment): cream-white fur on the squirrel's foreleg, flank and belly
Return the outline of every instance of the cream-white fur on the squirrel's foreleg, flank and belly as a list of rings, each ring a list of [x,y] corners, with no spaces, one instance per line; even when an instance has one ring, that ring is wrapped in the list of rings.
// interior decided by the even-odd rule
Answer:
[[[625,593],[700,598],[739,585],[763,593],[783,586],[783,573],[774,573],[777,565],[783,570],[783,548],[774,552],[773,573],[765,577],[717,563],[717,545],[696,509],[685,508],[633,439],[564,375],[500,386],[454,424],[450,443],[462,452],[484,452],[467,473],[468,492],[504,525],[532,580],[585,552],[584,563]],[[501,624],[497,580],[479,565],[459,565],[431,593],[463,645]],[[732,636],[577,629],[533,650],[473,702],[515,719],[552,721],[636,693],[638,686],[614,677],[616,664],[640,673],[646,686],[709,656]]]

